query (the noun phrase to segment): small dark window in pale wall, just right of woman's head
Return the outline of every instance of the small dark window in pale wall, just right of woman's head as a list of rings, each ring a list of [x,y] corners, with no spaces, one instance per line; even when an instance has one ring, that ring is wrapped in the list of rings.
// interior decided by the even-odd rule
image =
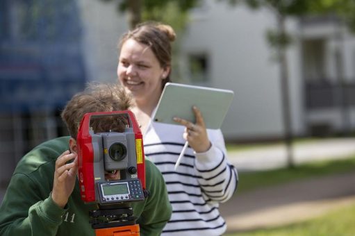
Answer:
[[[191,54],[189,56],[190,79],[192,83],[209,81],[208,63],[208,56],[206,54]]]

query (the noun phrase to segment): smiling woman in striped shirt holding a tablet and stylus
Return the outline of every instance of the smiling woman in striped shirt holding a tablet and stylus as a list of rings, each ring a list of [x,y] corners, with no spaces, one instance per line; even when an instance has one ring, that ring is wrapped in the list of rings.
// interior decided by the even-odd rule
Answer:
[[[167,184],[173,212],[163,235],[222,235],[226,223],[218,206],[236,191],[238,174],[227,160],[221,131],[206,129],[198,108],[193,109],[195,124],[180,118],[175,119],[177,125],[151,122],[163,87],[170,81],[174,39],[168,25],[138,25],[119,42],[117,75],[133,96],[132,111],[144,134],[145,155]],[[186,141],[188,149],[175,171]]]

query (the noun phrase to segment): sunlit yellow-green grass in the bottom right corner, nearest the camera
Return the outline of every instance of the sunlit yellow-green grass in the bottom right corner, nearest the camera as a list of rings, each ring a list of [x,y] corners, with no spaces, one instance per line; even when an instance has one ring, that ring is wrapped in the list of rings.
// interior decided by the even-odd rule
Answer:
[[[232,233],[225,236],[319,236],[319,235],[355,235],[355,204],[338,208],[302,223],[277,228],[255,230],[247,233]]]

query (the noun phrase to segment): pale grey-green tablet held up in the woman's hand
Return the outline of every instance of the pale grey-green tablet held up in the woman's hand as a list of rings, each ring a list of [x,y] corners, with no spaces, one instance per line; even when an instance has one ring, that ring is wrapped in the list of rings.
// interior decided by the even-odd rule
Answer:
[[[153,121],[176,124],[173,117],[195,123],[192,106],[197,106],[204,117],[206,128],[218,129],[233,100],[233,91],[211,87],[167,83],[153,115]]]

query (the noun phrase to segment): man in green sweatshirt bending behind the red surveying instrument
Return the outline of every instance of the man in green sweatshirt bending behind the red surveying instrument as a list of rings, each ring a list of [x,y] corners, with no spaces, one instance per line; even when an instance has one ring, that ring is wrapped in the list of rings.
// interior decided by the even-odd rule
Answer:
[[[129,104],[129,96],[118,85],[91,86],[67,103],[62,118],[71,137],[44,142],[19,161],[0,206],[0,235],[95,235],[89,212],[98,205],[81,200],[76,176],[79,122],[85,113],[127,110]],[[107,121],[102,125],[94,125],[94,131],[115,130]],[[133,214],[140,235],[160,235],[172,208],[160,171],[149,160],[145,171],[149,196],[131,203]],[[118,174],[111,171],[105,176],[113,179]]]

